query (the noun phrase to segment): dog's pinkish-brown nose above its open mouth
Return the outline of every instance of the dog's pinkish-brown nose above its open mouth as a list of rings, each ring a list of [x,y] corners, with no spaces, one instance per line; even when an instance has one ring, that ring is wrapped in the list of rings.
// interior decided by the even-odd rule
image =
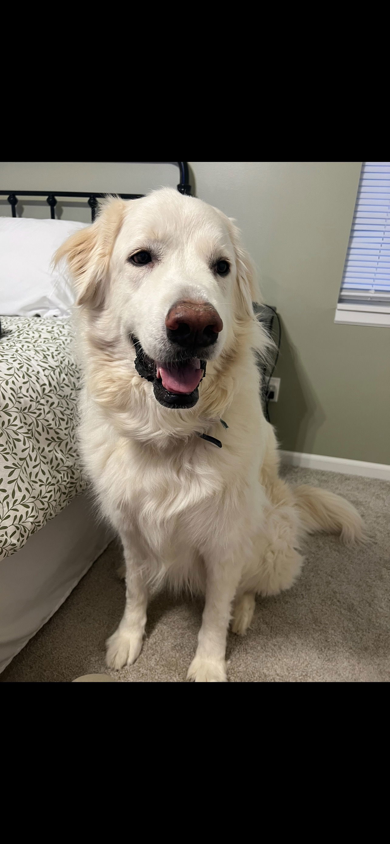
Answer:
[[[183,349],[215,343],[224,324],[209,302],[181,301],[165,317],[166,335]]]

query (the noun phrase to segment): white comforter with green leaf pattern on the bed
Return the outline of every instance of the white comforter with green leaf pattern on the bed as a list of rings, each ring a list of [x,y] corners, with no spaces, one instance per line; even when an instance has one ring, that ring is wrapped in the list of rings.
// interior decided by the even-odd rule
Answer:
[[[76,442],[72,323],[2,317],[1,324],[0,558],[86,487]]]

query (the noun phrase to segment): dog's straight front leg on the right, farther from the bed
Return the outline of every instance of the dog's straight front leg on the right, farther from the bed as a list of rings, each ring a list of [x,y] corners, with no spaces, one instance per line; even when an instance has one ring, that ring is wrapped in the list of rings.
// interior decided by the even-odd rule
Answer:
[[[188,668],[187,680],[195,683],[226,683],[226,635],[231,603],[240,582],[241,565],[230,555],[224,561],[206,559],[205,565],[206,601],[198,634],[198,648]]]

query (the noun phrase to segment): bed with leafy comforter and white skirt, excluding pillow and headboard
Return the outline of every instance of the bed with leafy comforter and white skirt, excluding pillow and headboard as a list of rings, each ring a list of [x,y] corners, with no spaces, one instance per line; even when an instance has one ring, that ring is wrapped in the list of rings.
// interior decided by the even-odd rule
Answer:
[[[72,322],[2,317],[1,327],[0,671],[111,539],[85,491]]]

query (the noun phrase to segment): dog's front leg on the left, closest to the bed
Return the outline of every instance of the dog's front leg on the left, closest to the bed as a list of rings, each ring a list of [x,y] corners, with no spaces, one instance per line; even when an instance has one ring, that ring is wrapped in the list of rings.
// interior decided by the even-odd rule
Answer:
[[[126,606],[122,621],[106,641],[106,663],[109,668],[133,665],[144,640],[148,589],[142,568],[143,550],[132,536],[122,536],[126,563]]]

